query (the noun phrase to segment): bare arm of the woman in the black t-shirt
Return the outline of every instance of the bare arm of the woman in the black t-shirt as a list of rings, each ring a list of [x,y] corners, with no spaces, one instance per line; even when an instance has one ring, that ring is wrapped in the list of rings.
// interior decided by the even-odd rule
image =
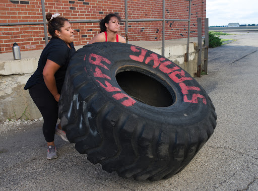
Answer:
[[[43,77],[46,84],[46,87],[51,92],[51,94],[54,96],[54,99],[58,102],[60,94],[57,91],[56,83],[55,83],[55,77],[54,74],[56,71],[60,68],[57,63],[47,59],[46,65],[43,69]]]

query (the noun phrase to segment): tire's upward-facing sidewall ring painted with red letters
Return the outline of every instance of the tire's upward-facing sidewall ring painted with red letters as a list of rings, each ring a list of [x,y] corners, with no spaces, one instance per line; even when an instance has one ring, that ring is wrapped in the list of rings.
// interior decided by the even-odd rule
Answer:
[[[90,51],[87,51],[87,49],[90,49]],[[137,58],[140,57],[141,54],[143,55],[143,52],[145,53],[144,56]],[[102,42],[86,45],[84,48],[79,49],[77,54],[81,54],[80,57],[84,58],[84,61],[82,62],[83,64],[80,65],[80,68],[85,71],[86,78],[88,78],[92,87],[98,88],[98,91],[101,94],[99,99],[103,102],[111,102],[119,112],[126,112],[128,115],[134,115],[142,118],[143,120],[151,120],[155,123],[166,123],[169,125],[173,124],[180,126],[198,123],[201,118],[205,118],[209,113],[210,104],[212,103],[210,102],[209,96],[199,83],[183,69],[155,52],[131,44],[116,43],[114,46],[113,42]],[[162,60],[160,61],[160,64],[169,62],[170,65],[168,65],[167,68],[171,71],[173,68],[176,70],[170,73],[162,72],[159,69],[160,64],[158,65],[150,59],[150,56],[153,57],[153,55]],[[103,60],[96,61],[98,59],[96,56]],[[132,57],[134,59],[132,59]],[[148,57],[149,62],[146,61]],[[159,61],[156,60],[156,62]],[[155,68],[154,65],[156,65]],[[98,73],[101,73],[104,77],[96,77],[96,74],[94,75],[96,70],[98,70]],[[116,81],[115,76],[121,71],[144,73],[145,75],[159,81],[168,89],[173,97],[175,97],[173,105],[168,107],[154,107],[134,100],[121,89]],[[174,79],[171,78],[171,76]],[[82,77],[82,81],[84,81],[83,78],[85,78],[85,76]],[[182,80],[182,78],[186,80]],[[196,87],[196,89],[198,88],[199,90],[186,90],[187,94],[183,94],[185,93],[185,90],[182,90],[180,86],[182,83],[187,87]],[[113,90],[112,88],[107,90],[107,86],[109,85],[111,85]],[[124,97],[121,99],[115,99],[114,95],[116,94],[120,94],[119,96]],[[194,100],[195,103],[184,101],[185,96],[187,100],[191,100],[194,94],[201,95],[200,97],[202,98]],[[126,100],[127,105],[124,105],[122,102],[126,102]],[[130,105],[130,101],[132,102],[132,105]],[[204,103],[205,101],[206,103]]]

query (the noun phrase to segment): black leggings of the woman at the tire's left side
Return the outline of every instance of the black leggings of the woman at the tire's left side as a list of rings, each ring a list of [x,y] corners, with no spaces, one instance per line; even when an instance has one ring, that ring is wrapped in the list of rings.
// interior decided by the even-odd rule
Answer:
[[[45,84],[36,84],[29,88],[30,96],[41,112],[43,135],[46,142],[54,141],[55,125],[58,119],[58,102],[47,89]]]

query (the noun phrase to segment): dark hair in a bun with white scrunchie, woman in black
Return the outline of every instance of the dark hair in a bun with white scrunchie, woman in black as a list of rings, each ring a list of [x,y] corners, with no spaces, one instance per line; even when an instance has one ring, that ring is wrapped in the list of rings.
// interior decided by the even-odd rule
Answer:
[[[57,38],[54,31],[55,30],[61,31],[61,28],[64,26],[64,22],[66,21],[69,22],[69,20],[60,16],[55,17],[53,19],[51,19],[51,17],[52,17],[51,13],[46,14],[46,20],[48,21],[48,32],[52,37]]]

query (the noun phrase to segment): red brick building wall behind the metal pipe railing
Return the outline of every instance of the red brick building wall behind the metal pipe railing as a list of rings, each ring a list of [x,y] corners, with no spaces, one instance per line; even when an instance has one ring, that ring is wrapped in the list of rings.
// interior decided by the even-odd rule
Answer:
[[[93,20],[108,13],[119,14],[124,19],[124,1],[100,0],[45,0],[45,11],[60,13],[69,20]],[[166,19],[188,19],[189,1],[165,0]],[[191,2],[190,37],[197,37],[197,17],[206,18],[206,0]],[[128,0],[128,19],[162,19],[162,0]],[[40,22],[41,0],[1,0],[0,23]],[[73,23],[75,45],[85,45],[99,33],[98,23]],[[188,22],[166,22],[165,39],[187,38]],[[45,37],[43,25],[18,25],[0,27],[0,53],[11,52],[16,42],[21,51],[43,49]],[[125,35],[124,23],[119,34]],[[204,34],[204,32],[203,32]],[[48,34],[48,39],[50,35]],[[162,22],[128,23],[129,41],[162,40]]]

